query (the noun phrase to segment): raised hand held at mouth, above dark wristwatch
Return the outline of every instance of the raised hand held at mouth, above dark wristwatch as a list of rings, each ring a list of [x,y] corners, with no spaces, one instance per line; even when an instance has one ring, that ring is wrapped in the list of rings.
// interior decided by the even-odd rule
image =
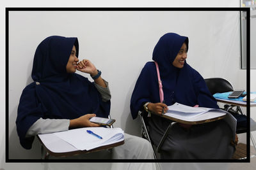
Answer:
[[[82,71],[83,73],[88,73],[91,76],[98,74],[96,67],[90,62],[90,60],[83,59],[77,64],[77,70]]]

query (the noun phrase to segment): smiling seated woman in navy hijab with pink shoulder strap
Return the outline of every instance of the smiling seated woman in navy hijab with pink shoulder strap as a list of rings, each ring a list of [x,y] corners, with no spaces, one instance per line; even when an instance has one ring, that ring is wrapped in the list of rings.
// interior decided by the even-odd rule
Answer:
[[[219,108],[204,78],[187,64],[187,52],[186,36],[167,33],[159,39],[152,59],[159,65],[164,103],[160,103],[156,64],[147,62],[132,93],[132,118],[145,110],[166,113],[174,103]],[[151,114],[148,124],[150,136],[158,145],[170,121]],[[230,159],[234,153],[231,139],[232,131],[223,120],[192,126],[175,124],[161,147],[161,159]]]

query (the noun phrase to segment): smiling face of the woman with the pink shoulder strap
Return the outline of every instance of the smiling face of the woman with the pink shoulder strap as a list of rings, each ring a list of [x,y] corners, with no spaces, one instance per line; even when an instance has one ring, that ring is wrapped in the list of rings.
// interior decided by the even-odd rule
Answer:
[[[177,56],[173,60],[172,65],[181,69],[184,66],[186,59],[187,59],[187,45],[183,43]]]

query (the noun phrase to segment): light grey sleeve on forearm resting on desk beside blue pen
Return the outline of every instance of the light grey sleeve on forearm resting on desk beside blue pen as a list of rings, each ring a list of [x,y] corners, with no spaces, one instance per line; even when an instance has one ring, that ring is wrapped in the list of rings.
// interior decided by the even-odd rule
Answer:
[[[26,138],[36,136],[36,134],[47,134],[53,132],[68,131],[70,120],[68,119],[43,119],[39,118],[29,127]]]

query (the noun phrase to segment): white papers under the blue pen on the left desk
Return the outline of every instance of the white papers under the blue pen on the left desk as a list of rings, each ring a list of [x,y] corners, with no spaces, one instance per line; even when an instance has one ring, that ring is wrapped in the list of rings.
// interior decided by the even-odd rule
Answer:
[[[87,130],[101,136],[102,139],[89,134]],[[69,131],[55,132],[52,134],[38,134],[38,136],[42,139],[47,138],[47,136],[60,138],[61,141],[69,143],[77,150],[92,150],[93,148],[98,148],[100,146],[124,141],[124,131],[122,131],[122,129],[110,129],[105,127],[84,127]],[[45,146],[47,146],[47,143]]]

